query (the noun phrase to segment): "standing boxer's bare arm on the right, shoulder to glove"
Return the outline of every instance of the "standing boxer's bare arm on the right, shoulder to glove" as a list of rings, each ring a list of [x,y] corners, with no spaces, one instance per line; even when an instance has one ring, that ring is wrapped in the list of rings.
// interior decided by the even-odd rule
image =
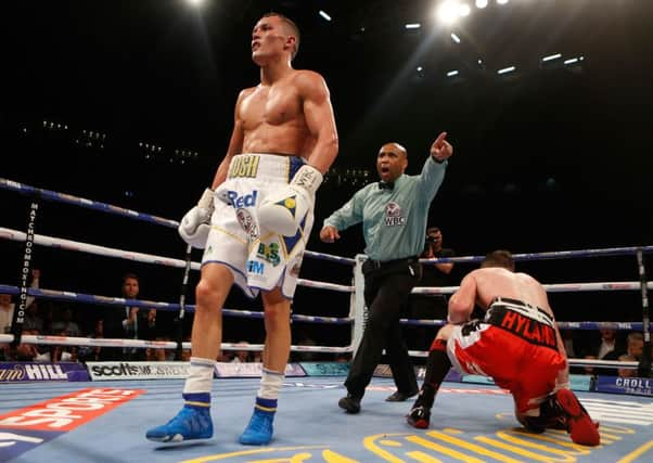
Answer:
[[[308,164],[324,173],[337,156],[338,141],[333,107],[326,82],[317,73],[297,74],[297,85],[304,101],[304,119],[316,144],[308,155]]]

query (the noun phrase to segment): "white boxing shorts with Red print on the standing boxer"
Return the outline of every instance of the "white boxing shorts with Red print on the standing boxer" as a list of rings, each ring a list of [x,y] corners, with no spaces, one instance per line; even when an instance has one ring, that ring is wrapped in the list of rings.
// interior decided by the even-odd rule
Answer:
[[[248,297],[276,286],[289,299],[295,294],[313,211],[300,220],[294,236],[284,236],[266,230],[257,210],[267,195],[289,184],[304,163],[297,156],[239,154],[231,159],[227,180],[216,189],[202,265],[227,266]]]

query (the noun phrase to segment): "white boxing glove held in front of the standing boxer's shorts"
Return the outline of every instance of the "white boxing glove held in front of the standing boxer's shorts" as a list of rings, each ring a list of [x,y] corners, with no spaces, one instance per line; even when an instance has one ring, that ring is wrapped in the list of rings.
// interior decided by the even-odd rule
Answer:
[[[258,207],[258,223],[284,236],[294,236],[299,222],[312,209],[322,173],[308,164],[302,166],[287,187],[270,194]]]

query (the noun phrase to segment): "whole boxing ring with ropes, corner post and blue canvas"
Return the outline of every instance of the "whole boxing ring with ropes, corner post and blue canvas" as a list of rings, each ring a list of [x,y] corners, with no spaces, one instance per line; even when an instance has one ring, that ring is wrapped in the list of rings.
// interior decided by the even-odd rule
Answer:
[[[124,308],[156,308],[174,312],[192,311],[185,305],[182,290],[179,304],[105,297],[50,288],[29,288],[30,256],[37,246],[60,248],[90,255],[128,259],[153,266],[197,270],[187,249],[183,259],[148,255],[131,250],[75,242],[36,233],[36,216],[40,201],[54,201],[98,211],[129,217],[167,228],[177,222],[120,207],[62,193],[35,189],[0,179],[0,189],[20,192],[31,197],[26,232],[0,228],[0,237],[22,243],[25,259],[21,284],[0,284],[0,293],[18,296],[16,310],[26,296]],[[12,193],[2,193],[12,194]],[[515,255],[515,260],[603,257],[636,255],[640,281],[565,283],[545,285],[549,292],[617,292],[639,291],[642,296],[642,322],[559,322],[569,330],[635,330],[644,333],[650,348],[650,320],[642,255],[646,247],[585,249]],[[336,291],[348,295],[350,304],[346,317],[313,317],[293,313],[294,323],[340,324],[351,326],[351,340],[346,346],[302,346],[293,351],[350,353],[362,334],[362,256],[355,259],[306,252],[305,257],[330,260],[354,269],[353,285],[299,280],[299,286]],[[440,259],[439,261],[478,262],[479,256]],[[436,260],[433,260],[436,261]],[[433,262],[431,261],[431,263]],[[428,262],[426,262],[428,263]],[[349,270],[347,270],[349,271]],[[2,282],[0,282],[2,283]],[[415,293],[450,294],[456,287],[415,288]],[[302,291],[302,290],[298,290]],[[23,307],[24,308],[24,307]],[[225,309],[226,317],[261,318],[258,311]],[[561,314],[559,313],[559,317]],[[437,326],[441,320],[402,320],[407,325]],[[0,343],[137,347],[181,349],[189,348],[181,337],[175,342],[140,339],[92,339],[50,335],[0,334]],[[261,345],[223,343],[225,350],[260,350]],[[425,352],[411,351],[413,356]],[[404,415],[410,402],[385,402],[394,391],[390,378],[383,377],[384,369],[368,387],[362,411],[358,415],[344,413],[337,400],[345,394],[343,386],[346,365],[332,362],[298,362],[289,366],[280,397],[280,413],[274,421],[274,438],[270,446],[252,448],[238,443],[252,410],[259,380],[256,366],[217,368],[212,394],[212,414],[215,424],[213,439],[162,446],[144,438],[144,432],[174,415],[181,404],[183,363],[163,362],[89,362],[86,369],[66,371],[63,364],[28,365],[24,370],[12,366],[15,374],[0,370],[0,462],[93,461],[93,462],[646,462],[653,460],[653,380],[638,378],[628,383],[619,394],[605,394],[589,378],[572,381],[580,401],[594,420],[601,422],[601,446],[586,448],[571,441],[566,433],[547,430],[541,435],[526,434],[513,417],[513,402],[504,390],[481,378],[451,378],[440,388],[433,410],[431,428],[409,427]],[[149,362],[156,363],[156,362]],[[596,368],[630,368],[645,372],[638,362],[610,362],[569,359],[571,365]],[[259,368],[259,366],[258,366]],[[18,381],[29,370],[30,382]],[[220,372],[222,375],[220,375]],[[423,375],[423,371],[420,371]],[[36,375],[36,376],[35,376]],[[2,381],[11,378],[15,381]],[[243,377],[249,376],[249,377]],[[105,378],[111,381],[105,381]],[[152,377],[144,380],[146,377]],[[46,381],[54,380],[54,381]],[[79,381],[86,380],[86,381]],[[92,380],[92,381],[88,381]],[[420,381],[421,382],[421,381]],[[590,391],[592,390],[592,391]],[[599,391],[596,391],[599,390]],[[630,391],[631,395],[623,393]]]

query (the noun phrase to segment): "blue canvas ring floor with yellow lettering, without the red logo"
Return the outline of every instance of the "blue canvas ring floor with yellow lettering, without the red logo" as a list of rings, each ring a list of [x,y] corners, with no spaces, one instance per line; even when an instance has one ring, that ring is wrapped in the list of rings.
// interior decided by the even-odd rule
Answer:
[[[337,407],[342,377],[286,378],[270,446],[245,447],[238,437],[249,420],[258,380],[214,381],[215,436],[201,442],[161,445],[145,429],[172,417],[181,381],[0,385],[0,415],[78,389],[141,389],[143,394],[62,434],[0,427],[0,461],[17,462],[651,462],[651,398],[579,394],[601,422],[602,446],[574,445],[564,432],[528,435],[512,416],[510,396],[492,386],[445,383],[430,429],[409,427],[408,402],[385,402],[389,380],[375,378],[358,415]],[[28,435],[28,437],[21,437]],[[20,451],[18,451],[20,450]]]

